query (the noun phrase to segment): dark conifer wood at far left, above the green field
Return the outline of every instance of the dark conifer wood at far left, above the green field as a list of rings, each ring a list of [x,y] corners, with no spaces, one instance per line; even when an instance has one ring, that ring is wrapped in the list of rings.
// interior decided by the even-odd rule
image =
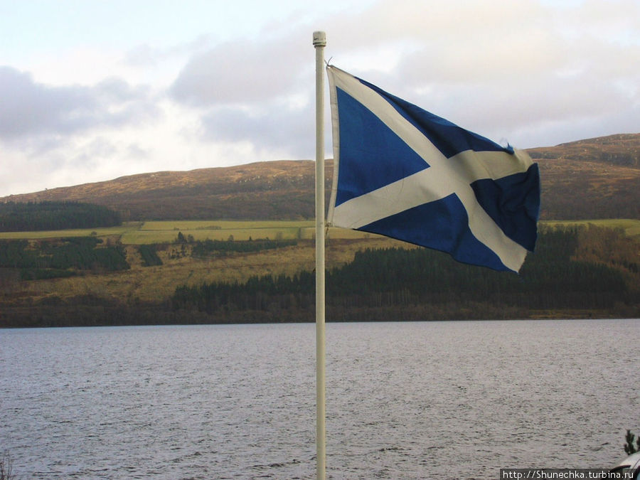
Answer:
[[[0,232],[66,230],[120,225],[119,213],[105,206],[80,202],[0,203]]]

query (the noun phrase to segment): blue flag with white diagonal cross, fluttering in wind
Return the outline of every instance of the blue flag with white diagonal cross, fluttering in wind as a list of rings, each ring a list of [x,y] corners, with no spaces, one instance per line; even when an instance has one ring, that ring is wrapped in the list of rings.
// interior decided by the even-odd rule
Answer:
[[[538,164],[333,65],[327,73],[329,225],[518,272],[538,235]]]

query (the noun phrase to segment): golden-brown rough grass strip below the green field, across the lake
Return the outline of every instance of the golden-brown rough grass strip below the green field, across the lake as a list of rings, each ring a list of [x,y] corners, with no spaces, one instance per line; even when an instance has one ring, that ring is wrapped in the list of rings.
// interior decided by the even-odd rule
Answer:
[[[387,238],[361,240],[329,240],[326,263],[328,268],[338,267],[353,260],[363,248],[383,248],[400,245]],[[205,282],[238,281],[266,274],[294,274],[314,268],[314,242],[302,240],[298,245],[238,253],[224,257],[193,258],[191,245],[169,244],[158,251],[163,265],[143,267],[136,245],[127,245],[127,262],[131,268],[122,272],[82,274],[76,277],[43,279],[23,282],[18,272],[0,269],[0,305],[23,305],[38,302],[58,302],[89,295],[123,304],[162,302],[174,293],[176,286],[199,285]]]

